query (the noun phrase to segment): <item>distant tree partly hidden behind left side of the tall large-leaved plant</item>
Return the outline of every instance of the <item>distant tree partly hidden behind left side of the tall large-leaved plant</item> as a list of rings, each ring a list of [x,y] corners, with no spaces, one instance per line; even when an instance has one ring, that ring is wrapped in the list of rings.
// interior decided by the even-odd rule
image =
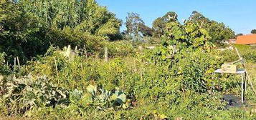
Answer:
[[[169,11],[162,17],[158,17],[153,21],[153,36],[160,38],[164,34],[164,29],[166,29],[166,24],[170,19],[178,21],[178,16],[174,11]]]

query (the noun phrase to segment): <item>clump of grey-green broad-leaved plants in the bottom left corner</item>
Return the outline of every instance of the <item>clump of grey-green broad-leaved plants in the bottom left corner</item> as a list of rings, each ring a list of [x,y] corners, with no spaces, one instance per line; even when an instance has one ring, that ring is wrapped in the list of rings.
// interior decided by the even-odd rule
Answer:
[[[67,104],[67,91],[54,86],[46,77],[21,79],[8,78],[4,81],[4,106],[11,115],[25,114],[40,106]]]

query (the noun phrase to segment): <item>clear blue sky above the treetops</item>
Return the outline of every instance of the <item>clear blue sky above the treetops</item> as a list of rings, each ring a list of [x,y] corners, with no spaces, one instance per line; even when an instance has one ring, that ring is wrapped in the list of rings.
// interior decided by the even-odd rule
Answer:
[[[256,29],[256,0],[96,0],[125,21],[128,12],[141,15],[146,25],[168,11],[176,11],[179,20],[199,11],[209,19],[223,22],[237,34]],[[125,27],[122,27],[122,30]]]

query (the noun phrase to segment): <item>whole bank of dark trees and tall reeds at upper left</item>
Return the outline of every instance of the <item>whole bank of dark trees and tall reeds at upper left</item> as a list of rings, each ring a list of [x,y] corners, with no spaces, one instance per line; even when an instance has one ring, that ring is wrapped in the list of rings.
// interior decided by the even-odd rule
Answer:
[[[0,12],[0,51],[9,64],[16,56],[25,64],[45,54],[51,44],[85,46],[92,53],[99,52],[106,39],[121,39],[120,20],[94,0],[4,0]]]

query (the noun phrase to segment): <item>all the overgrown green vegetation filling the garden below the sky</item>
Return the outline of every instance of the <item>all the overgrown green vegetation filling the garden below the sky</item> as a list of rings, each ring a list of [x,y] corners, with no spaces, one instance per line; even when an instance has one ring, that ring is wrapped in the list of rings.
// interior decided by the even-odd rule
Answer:
[[[234,31],[196,11],[182,24],[169,12],[153,28],[131,13],[121,35],[120,20],[93,0],[0,3],[3,118],[256,117],[253,106],[226,109],[222,95],[239,95],[240,79],[213,74],[224,62],[237,60],[234,51],[217,50]],[[77,46],[70,51],[74,59],[67,56],[67,45]],[[237,48],[255,77],[256,48]],[[256,100],[250,89],[246,98]]]

